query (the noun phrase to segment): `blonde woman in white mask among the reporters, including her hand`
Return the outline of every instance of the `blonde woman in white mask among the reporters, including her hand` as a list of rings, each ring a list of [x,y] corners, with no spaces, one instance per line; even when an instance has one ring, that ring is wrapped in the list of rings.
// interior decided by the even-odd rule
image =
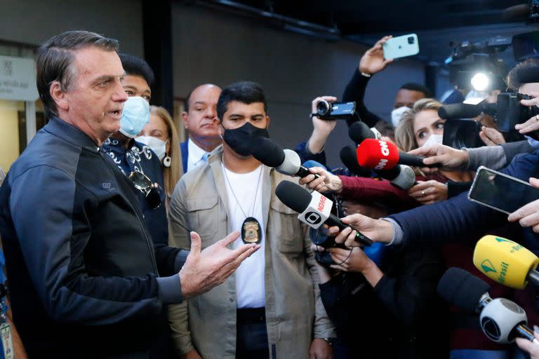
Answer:
[[[423,98],[405,111],[395,130],[395,142],[405,152],[430,144],[441,144],[446,120],[438,116],[443,104],[432,98]],[[448,179],[466,182],[473,178],[470,172],[440,172],[440,175],[425,175],[415,169],[418,184],[408,190],[408,194],[422,204],[447,199]]]

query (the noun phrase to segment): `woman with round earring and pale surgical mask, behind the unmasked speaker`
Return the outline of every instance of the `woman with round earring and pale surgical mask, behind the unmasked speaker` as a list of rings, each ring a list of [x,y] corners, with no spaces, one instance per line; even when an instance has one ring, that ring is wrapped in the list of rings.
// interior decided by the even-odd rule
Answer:
[[[142,128],[135,140],[147,145],[159,157],[168,200],[182,175],[180,140],[168,111],[163,107],[150,106],[149,123]],[[168,201],[166,203],[168,208]]]

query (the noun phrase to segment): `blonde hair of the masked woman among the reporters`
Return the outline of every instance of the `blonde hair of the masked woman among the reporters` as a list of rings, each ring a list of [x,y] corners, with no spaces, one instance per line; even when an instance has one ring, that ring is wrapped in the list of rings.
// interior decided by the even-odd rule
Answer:
[[[413,104],[413,108],[405,111],[402,114],[399,125],[395,129],[395,142],[397,142],[399,149],[408,152],[418,148],[418,142],[415,140],[415,134],[413,132],[415,115],[428,109],[438,111],[442,106],[443,104],[441,102],[433,98],[422,98]]]

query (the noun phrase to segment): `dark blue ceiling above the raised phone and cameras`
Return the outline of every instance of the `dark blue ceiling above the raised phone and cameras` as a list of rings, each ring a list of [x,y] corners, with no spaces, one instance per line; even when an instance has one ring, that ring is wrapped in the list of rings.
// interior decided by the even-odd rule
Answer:
[[[526,0],[191,0],[262,19],[267,25],[318,36],[372,45],[386,34],[416,33],[419,59],[443,63],[451,41],[484,41],[538,29],[526,17],[504,20],[504,10]],[[514,63],[512,49],[501,55]]]

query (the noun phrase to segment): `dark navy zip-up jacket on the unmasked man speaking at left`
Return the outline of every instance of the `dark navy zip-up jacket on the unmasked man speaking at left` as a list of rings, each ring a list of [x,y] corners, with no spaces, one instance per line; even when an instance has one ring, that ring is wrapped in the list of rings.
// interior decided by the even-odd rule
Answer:
[[[11,166],[0,234],[30,357],[167,357],[165,304],[182,300],[186,252],[154,248],[137,196],[112,159],[59,118]]]

